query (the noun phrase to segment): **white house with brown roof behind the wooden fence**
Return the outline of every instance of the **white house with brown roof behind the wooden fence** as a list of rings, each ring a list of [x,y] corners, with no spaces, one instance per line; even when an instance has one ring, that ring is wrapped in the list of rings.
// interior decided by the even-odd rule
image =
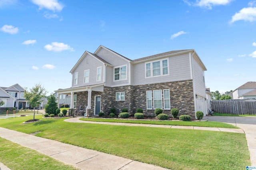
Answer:
[[[256,82],[247,82],[228,95],[232,99],[256,99]]]

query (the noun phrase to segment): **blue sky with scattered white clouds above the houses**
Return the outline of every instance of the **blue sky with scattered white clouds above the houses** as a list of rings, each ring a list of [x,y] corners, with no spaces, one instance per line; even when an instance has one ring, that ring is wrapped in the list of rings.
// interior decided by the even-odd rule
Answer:
[[[71,87],[84,51],[103,45],[129,59],[195,49],[206,87],[256,81],[256,1],[0,0],[0,86]]]

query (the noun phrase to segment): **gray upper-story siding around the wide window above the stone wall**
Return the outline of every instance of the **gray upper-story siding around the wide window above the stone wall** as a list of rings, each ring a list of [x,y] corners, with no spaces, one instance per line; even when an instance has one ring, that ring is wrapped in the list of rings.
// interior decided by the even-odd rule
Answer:
[[[167,58],[166,58],[167,59]],[[182,80],[190,80],[190,62],[189,54],[176,55],[168,57],[169,59],[169,75],[145,78],[145,63],[134,64],[132,72],[132,85],[153,84],[161,82],[174,82]]]

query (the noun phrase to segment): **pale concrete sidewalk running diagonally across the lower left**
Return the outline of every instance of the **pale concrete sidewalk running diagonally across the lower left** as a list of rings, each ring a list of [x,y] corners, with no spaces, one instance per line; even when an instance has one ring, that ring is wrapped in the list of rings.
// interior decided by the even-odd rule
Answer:
[[[81,170],[167,170],[159,166],[60,143],[0,127],[0,137],[37,150]],[[9,170],[0,164],[0,170]]]

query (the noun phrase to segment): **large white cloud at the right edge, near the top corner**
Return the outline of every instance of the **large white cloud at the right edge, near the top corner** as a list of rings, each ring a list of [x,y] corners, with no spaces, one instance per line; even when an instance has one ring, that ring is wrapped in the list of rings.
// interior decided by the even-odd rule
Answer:
[[[243,8],[239,12],[236,12],[236,14],[232,16],[230,23],[234,23],[239,20],[250,22],[256,21],[256,7]]]

